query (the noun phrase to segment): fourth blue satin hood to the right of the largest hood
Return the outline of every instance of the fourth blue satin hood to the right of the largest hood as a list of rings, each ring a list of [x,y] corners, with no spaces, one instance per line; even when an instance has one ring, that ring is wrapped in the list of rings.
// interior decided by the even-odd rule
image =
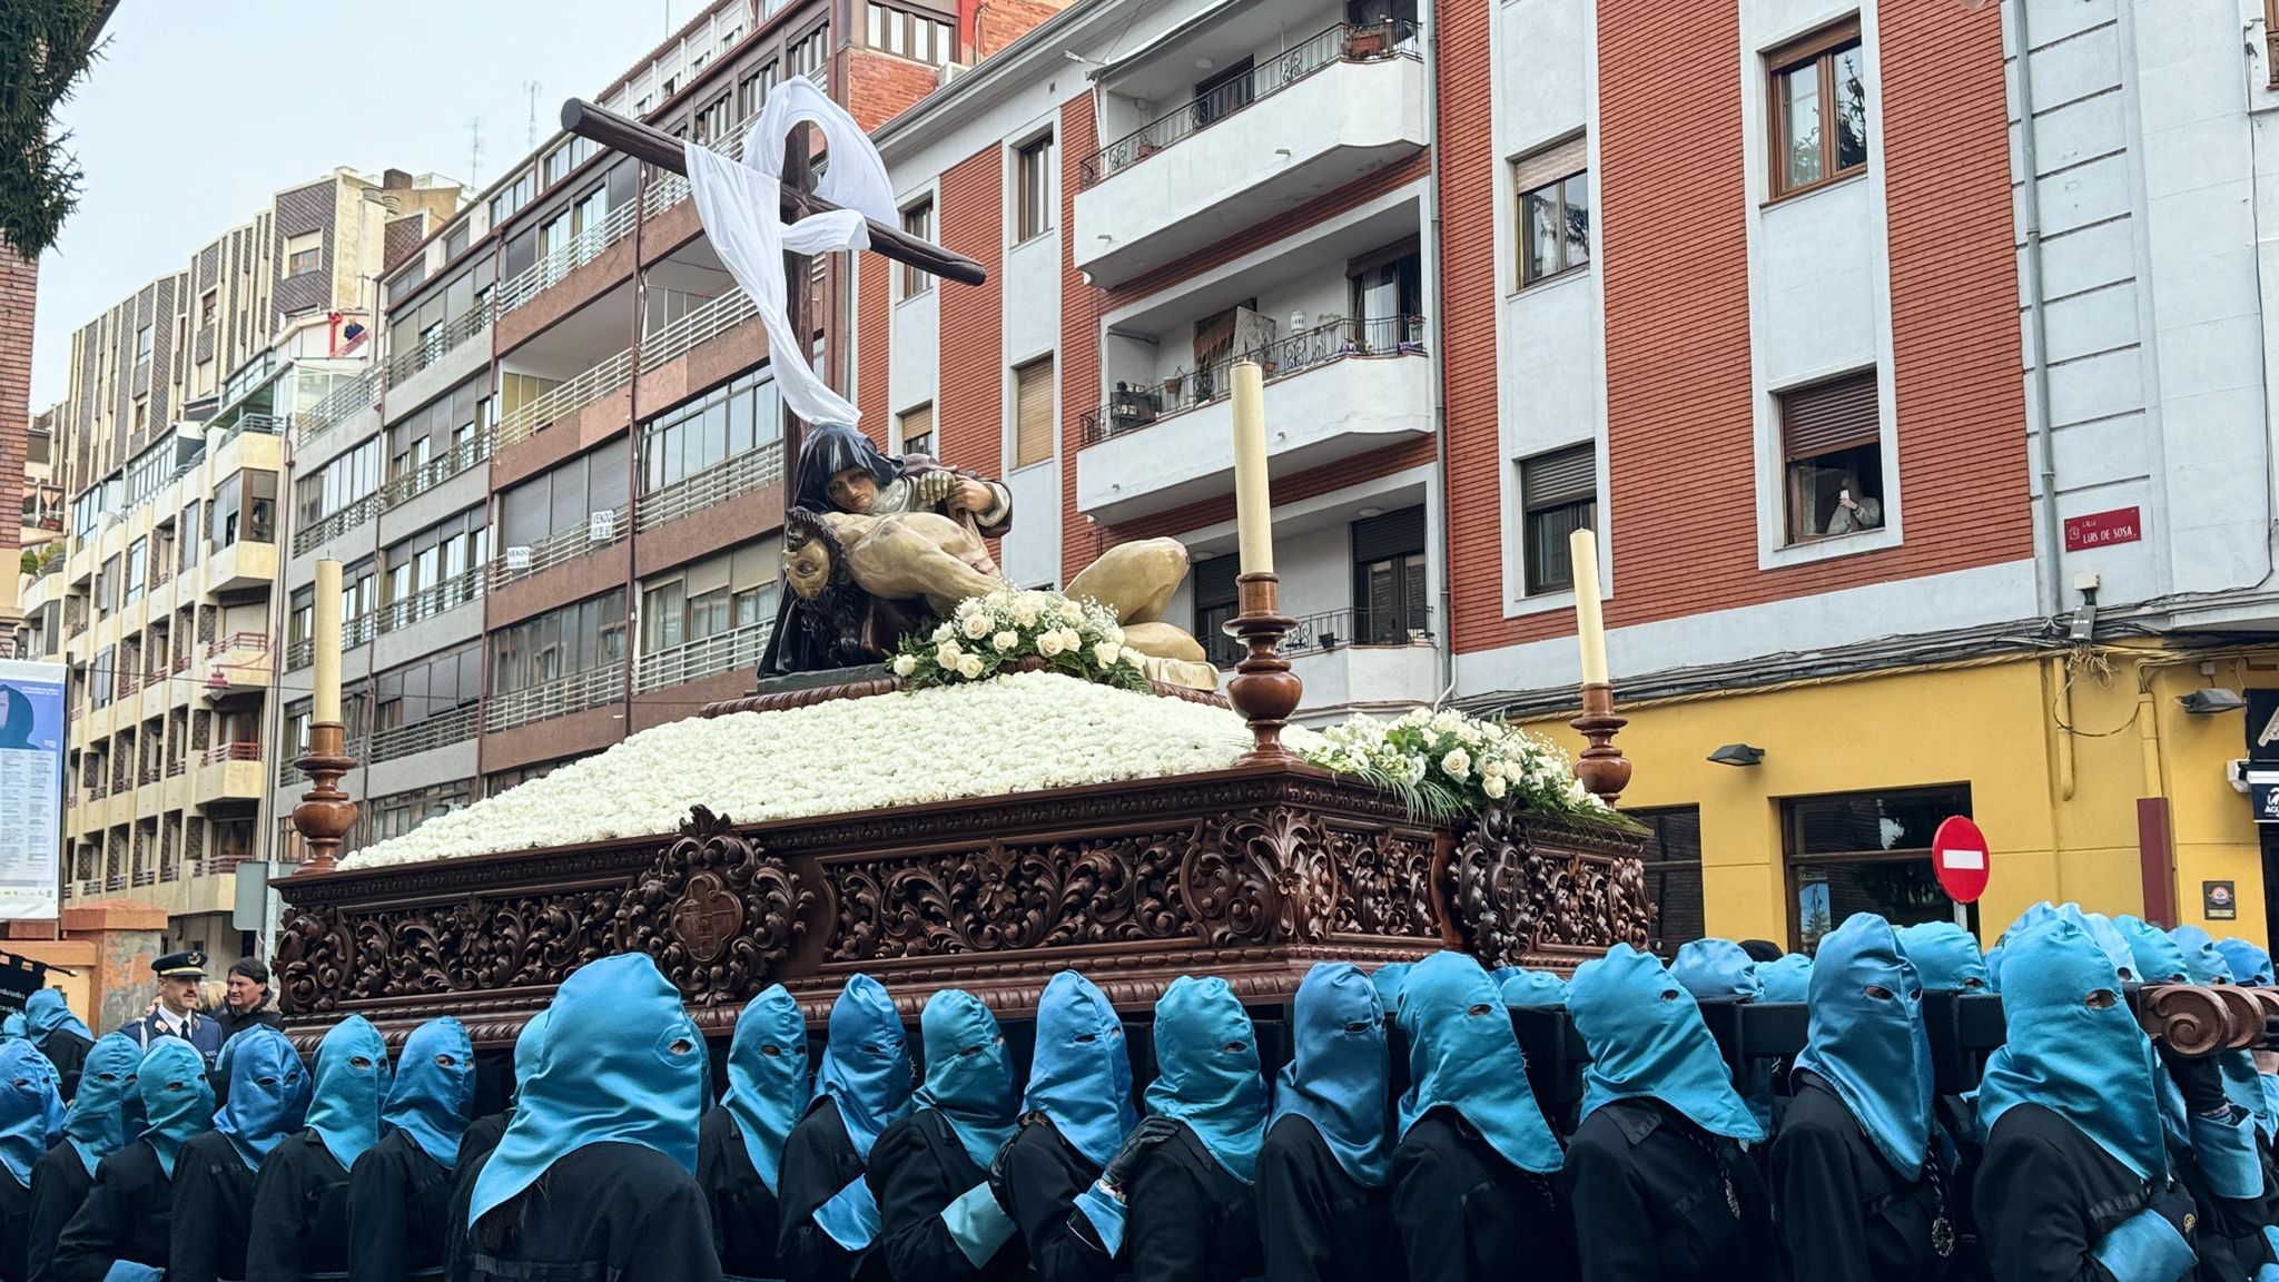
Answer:
[[[1140,1122],[1124,1022],[1108,995],[1073,969],[1055,974],[1037,999],[1037,1054],[1021,1113],[1051,1118],[1092,1166],[1108,1166]]]

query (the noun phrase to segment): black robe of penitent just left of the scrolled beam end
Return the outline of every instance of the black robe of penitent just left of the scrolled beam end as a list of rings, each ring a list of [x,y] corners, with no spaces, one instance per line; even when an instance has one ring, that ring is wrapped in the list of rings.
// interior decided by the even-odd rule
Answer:
[[[2090,1252],[2156,1188],[2040,1104],[2012,1104],[1987,1134],[1974,1204],[1996,1282],[2110,1282]]]

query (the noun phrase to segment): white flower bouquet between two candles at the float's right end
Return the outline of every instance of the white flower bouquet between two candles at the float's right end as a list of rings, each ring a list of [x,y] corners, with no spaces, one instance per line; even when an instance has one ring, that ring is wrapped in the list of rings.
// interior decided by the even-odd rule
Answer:
[[[1616,812],[1582,787],[1566,753],[1502,721],[1418,707],[1392,721],[1354,714],[1299,741],[1306,762],[1399,794],[1436,821],[1497,803],[1595,823]]]

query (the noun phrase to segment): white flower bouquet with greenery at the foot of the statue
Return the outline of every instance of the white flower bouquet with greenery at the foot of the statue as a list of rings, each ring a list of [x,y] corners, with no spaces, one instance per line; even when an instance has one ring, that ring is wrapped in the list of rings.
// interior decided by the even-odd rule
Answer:
[[[1046,671],[1146,693],[1117,614],[1094,600],[1003,589],[966,598],[939,627],[902,636],[891,662],[905,689]]]

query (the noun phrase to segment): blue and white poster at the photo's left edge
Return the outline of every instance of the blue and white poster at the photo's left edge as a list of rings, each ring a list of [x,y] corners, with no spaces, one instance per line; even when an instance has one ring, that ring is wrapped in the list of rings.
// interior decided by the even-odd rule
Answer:
[[[64,666],[0,659],[0,922],[55,917],[64,842]]]

